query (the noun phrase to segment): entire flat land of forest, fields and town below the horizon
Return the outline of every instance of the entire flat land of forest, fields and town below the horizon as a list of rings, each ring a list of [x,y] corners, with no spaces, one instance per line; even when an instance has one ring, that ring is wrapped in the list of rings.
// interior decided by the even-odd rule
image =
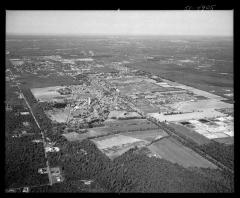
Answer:
[[[231,36],[7,34],[5,57],[6,192],[234,192]]]

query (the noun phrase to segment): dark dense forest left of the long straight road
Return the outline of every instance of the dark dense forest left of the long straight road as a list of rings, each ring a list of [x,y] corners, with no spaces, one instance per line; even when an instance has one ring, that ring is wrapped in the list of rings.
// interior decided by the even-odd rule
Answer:
[[[29,185],[47,184],[47,175],[39,175],[38,168],[46,166],[42,143],[32,140],[40,139],[40,131],[31,115],[20,115],[23,106],[13,105],[12,111],[5,113],[5,187],[23,187]],[[23,126],[28,122],[29,127]],[[12,135],[25,131],[21,137]]]

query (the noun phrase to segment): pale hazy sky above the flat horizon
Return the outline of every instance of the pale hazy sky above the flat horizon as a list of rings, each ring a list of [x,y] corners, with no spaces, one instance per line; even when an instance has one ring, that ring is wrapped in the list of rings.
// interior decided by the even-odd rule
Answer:
[[[7,11],[13,34],[233,35],[233,11]]]

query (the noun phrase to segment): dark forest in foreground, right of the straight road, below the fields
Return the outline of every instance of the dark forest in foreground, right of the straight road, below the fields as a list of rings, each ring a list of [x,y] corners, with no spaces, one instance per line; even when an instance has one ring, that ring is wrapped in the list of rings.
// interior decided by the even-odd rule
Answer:
[[[110,192],[230,191],[195,171],[135,151],[111,161],[89,140],[68,143],[61,157],[66,181],[93,179]]]

